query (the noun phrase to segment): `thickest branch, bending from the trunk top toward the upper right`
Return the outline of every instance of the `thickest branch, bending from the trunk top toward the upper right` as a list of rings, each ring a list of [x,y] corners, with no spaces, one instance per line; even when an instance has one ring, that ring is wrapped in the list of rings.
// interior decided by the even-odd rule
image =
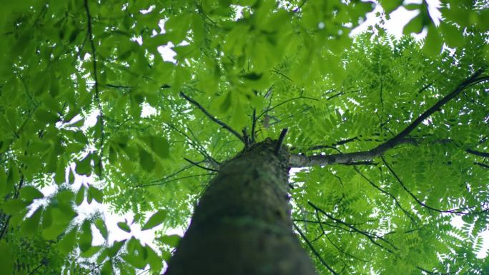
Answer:
[[[447,104],[448,101],[458,96],[463,89],[467,88],[474,81],[478,81],[478,76],[483,73],[483,69],[479,69],[468,79],[465,79],[461,84],[459,84],[450,94],[440,99],[435,105],[431,106],[430,109],[426,110],[423,114],[420,114],[411,124],[409,124],[404,130],[400,131],[399,134],[394,136],[392,139],[385,141],[385,143],[370,149],[368,151],[360,151],[354,153],[345,154],[331,154],[331,155],[315,155],[315,156],[305,156],[302,154],[295,154],[290,156],[290,166],[292,167],[307,167],[307,166],[324,166],[330,164],[347,164],[353,161],[368,161],[372,160],[376,156],[380,156],[388,149],[401,144],[403,139],[405,139],[411,131],[416,129],[425,119],[431,116],[435,111],[440,110],[440,108]]]

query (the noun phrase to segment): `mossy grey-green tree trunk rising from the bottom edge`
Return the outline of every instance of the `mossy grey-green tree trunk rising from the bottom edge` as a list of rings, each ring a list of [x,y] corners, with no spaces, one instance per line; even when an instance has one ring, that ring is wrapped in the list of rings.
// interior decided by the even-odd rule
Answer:
[[[315,275],[292,232],[287,152],[255,144],[222,165],[165,275]]]

